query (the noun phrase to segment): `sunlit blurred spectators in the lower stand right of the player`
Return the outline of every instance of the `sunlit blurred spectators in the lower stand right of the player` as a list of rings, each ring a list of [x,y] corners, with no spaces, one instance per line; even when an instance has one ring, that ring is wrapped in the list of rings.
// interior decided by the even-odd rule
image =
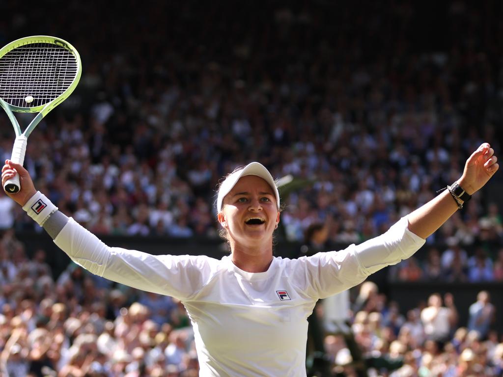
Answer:
[[[496,313],[486,291],[470,306],[466,326],[459,325],[450,294],[432,294],[428,302],[402,315],[399,304],[388,302],[372,282],[361,285],[352,313],[350,327],[325,337],[328,360],[334,362],[329,375],[503,375],[503,337],[491,327]]]

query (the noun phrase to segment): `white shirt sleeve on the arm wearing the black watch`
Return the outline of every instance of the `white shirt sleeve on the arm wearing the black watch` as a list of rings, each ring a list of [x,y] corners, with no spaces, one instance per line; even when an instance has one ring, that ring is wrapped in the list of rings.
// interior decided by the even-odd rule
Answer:
[[[341,251],[317,253],[292,263],[292,280],[306,295],[323,299],[354,287],[383,267],[410,257],[425,240],[407,229],[406,217],[386,233]]]

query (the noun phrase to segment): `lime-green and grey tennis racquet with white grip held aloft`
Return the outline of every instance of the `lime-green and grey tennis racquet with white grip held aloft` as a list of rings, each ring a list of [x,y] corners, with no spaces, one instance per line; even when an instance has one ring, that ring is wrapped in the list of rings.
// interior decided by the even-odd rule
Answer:
[[[23,164],[33,129],[77,86],[82,72],[80,56],[68,42],[49,36],[18,39],[0,49],[0,106],[16,132],[11,160]],[[21,132],[17,113],[37,113]],[[19,175],[4,184],[7,193],[21,189]]]

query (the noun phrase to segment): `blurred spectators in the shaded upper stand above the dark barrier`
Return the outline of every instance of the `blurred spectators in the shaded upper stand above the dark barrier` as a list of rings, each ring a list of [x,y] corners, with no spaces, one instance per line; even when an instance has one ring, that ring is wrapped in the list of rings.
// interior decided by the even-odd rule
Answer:
[[[321,220],[334,242],[361,242],[457,179],[482,141],[500,150],[501,33],[479,32],[499,24],[482,24],[468,4],[441,6],[444,45],[425,50],[425,31],[414,30],[422,9],[407,2],[364,13],[326,2],[172,3],[147,6],[135,30],[130,18],[101,23],[82,9],[83,20],[98,18],[86,39],[75,29],[90,25],[61,20],[82,78],[30,136],[25,165],[97,234],[217,237],[218,180],[258,160],[301,182],[284,197],[287,240]],[[12,21],[18,33],[26,17]],[[128,43],[105,48],[102,36],[119,32]],[[0,122],[9,158],[12,132]],[[471,246],[487,231],[499,243],[491,199],[475,196],[430,241]],[[34,227],[17,208],[3,222]]]

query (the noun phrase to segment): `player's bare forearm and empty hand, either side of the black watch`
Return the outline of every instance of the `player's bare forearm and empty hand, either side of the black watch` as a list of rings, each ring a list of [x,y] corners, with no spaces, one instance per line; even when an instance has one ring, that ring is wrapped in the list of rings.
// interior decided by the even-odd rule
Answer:
[[[483,143],[466,160],[463,175],[458,179],[459,185],[469,195],[481,189],[498,170],[497,157],[494,149],[488,143]],[[413,211],[408,216],[408,229],[427,238],[458,210],[458,204],[449,190],[443,191],[424,206]]]

